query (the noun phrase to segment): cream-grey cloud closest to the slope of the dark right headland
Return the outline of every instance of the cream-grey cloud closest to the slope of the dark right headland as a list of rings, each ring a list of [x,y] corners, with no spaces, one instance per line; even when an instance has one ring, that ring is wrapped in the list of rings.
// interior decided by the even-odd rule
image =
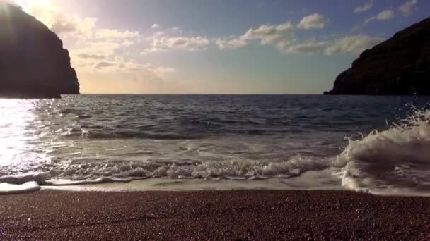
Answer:
[[[342,39],[335,39],[335,41],[327,47],[325,54],[329,56],[337,54],[360,54],[362,51],[370,49],[380,42],[383,42],[383,39],[368,35],[343,37]]]

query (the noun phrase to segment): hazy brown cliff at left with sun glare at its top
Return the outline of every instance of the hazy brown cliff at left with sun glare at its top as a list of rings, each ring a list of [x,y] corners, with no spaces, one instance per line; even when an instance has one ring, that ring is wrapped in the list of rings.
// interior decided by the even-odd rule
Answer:
[[[0,1],[0,97],[79,94],[69,51],[47,26]]]

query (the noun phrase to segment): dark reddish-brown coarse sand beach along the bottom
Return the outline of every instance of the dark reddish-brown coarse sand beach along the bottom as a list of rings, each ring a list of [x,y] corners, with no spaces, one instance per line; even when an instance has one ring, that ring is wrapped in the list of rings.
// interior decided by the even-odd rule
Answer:
[[[0,196],[0,240],[426,240],[430,198],[356,192]]]

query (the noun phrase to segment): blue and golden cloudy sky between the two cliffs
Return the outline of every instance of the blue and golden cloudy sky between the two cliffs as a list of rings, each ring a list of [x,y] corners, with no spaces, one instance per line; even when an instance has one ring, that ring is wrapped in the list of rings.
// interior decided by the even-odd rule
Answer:
[[[81,93],[321,94],[427,0],[13,0],[63,39]]]

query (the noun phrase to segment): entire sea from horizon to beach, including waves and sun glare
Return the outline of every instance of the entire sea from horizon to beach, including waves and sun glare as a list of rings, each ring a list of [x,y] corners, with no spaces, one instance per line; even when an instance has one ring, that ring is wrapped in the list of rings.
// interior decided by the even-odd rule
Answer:
[[[430,195],[430,97],[0,99],[0,193],[356,190]]]

